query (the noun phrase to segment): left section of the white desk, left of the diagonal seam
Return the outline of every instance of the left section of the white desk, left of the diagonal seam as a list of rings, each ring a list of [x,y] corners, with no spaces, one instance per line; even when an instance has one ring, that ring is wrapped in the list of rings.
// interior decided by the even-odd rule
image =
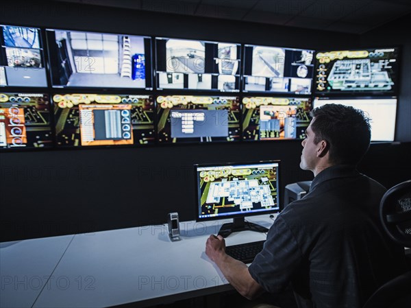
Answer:
[[[0,307],[32,307],[74,235],[0,244]]]

